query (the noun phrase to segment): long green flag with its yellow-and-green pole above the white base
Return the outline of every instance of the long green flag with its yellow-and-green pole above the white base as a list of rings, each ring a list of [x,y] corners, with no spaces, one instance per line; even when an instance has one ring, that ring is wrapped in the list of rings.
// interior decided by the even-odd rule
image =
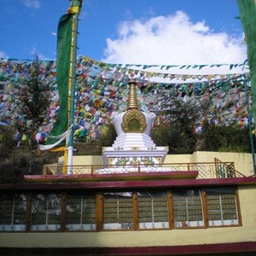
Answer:
[[[67,15],[62,15],[59,20],[56,66],[60,108],[46,144],[39,146],[41,150],[64,150],[65,141],[69,148],[73,147],[77,21],[82,2],[72,0]]]

